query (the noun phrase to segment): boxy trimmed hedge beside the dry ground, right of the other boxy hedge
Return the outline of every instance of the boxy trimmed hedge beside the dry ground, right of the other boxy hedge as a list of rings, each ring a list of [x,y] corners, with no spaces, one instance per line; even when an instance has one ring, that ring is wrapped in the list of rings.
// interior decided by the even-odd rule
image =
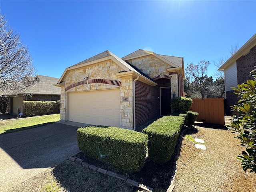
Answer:
[[[142,130],[143,133],[148,134],[150,160],[168,162],[171,159],[184,120],[183,116],[163,116]]]

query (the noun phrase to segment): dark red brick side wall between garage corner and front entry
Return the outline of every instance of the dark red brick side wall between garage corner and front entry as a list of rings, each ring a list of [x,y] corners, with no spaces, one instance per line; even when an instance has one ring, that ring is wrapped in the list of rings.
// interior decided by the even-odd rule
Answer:
[[[136,128],[138,128],[160,116],[160,100],[157,86],[136,81],[135,89]]]

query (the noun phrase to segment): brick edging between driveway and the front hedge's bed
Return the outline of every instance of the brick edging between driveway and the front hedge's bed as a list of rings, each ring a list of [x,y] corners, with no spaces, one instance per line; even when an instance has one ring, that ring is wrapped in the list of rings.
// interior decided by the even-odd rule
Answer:
[[[105,170],[105,169],[102,169],[102,168],[99,168],[99,167],[96,167],[94,165],[90,165],[86,162],[84,162],[84,160],[80,159],[80,158],[76,158],[76,157],[70,157],[69,160],[71,161],[74,161],[76,163],[79,163],[81,164],[83,167],[85,168],[90,168],[92,170],[94,170],[95,172],[100,172],[102,174],[106,174],[108,176],[111,176],[111,177],[114,177],[114,178],[118,178],[120,180],[123,180],[123,181],[126,181],[126,183],[130,184],[130,185],[133,185],[133,186],[136,186],[138,188],[142,188],[144,190],[147,190],[149,192],[152,192],[153,191],[153,188],[150,188],[146,185],[143,185],[139,182],[136,182],[134,180],[131,180],[129,179],[127,176],[123,176],[123,175],[120,175],[120,174],[117,174],[115,172],[112,172],[112,171],[108,171],[108,170]]]

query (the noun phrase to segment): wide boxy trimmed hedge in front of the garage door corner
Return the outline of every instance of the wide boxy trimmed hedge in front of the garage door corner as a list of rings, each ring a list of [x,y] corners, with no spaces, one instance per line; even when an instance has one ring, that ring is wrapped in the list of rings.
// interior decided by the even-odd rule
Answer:
[[[147,141],[146,134],[116,127],[91,126],[77,130],[78,147],[86,156],[127,173],[144,166]]]

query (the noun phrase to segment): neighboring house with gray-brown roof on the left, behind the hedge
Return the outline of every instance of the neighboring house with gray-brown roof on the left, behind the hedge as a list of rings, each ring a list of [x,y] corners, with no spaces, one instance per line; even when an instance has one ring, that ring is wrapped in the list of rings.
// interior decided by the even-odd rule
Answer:
[[[37,75],[35,84],[16,95],[9,97],[9,113],[23,112],[23,101],[57,101],[60,100],[60,88],[54,86],[59,78]]]

